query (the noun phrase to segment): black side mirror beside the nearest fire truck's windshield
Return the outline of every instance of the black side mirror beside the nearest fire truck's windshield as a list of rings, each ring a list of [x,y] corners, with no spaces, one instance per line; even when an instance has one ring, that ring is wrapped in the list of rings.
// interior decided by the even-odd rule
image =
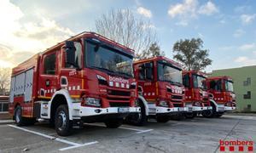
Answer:
[[[66,62],[69,65],[73,65],[77,67],[75,63],[75,51],[76,51],[76,48],[74,46],[74,42],[66,41],[65,42]]]

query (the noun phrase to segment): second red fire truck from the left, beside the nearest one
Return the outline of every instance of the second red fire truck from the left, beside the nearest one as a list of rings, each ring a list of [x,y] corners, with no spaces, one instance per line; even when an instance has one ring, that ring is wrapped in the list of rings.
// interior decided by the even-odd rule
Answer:
[[[168,122],[170,115],[187,111],[183,107],[184,88],[181,66],[159,56],[138,60],[133,64],[137,80],[137,106],[141,112],[129,116],[129,122],[143,125],[148,117]]]

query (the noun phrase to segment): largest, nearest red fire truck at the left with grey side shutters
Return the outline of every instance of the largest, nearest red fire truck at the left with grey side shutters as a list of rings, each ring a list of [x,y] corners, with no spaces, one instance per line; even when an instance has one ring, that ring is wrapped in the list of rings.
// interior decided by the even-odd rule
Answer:
[[[58,43],[12,71],[9,113],[18,126],[38,118],[66,136],[81,122],[119,127],[135,107],[134,51],[94,32]]]

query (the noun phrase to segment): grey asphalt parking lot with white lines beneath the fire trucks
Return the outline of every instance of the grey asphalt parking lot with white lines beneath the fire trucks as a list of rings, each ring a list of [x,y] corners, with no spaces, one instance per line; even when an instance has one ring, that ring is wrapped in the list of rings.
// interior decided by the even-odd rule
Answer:
[[[118,129],[84,124],[69,137],[58,137],[46,123],[0,125],[0,152],[219,152],[219,139],[253,140],[255,150],[256,116],[151,120],[145,127]]]

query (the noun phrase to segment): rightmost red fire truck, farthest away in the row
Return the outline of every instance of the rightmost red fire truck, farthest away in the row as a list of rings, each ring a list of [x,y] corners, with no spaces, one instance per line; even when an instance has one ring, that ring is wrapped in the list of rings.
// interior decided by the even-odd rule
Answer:
[[[231,77],[208,77],[207,88],[212,105],[212,114],[222,116],[224,111],[236,110],[236,95]]]

